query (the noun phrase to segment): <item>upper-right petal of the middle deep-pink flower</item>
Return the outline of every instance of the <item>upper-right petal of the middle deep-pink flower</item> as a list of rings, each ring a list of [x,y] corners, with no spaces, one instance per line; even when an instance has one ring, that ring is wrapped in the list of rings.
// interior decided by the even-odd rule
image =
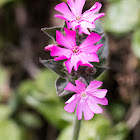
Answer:
[[[83,48],[93,46],[95,43],[97,43],[101,39],[101,36],[97,33],[91,33],[85,41],[79,46],[79,48],[82,50]],[[94,47],[92,47],[94,49]]]

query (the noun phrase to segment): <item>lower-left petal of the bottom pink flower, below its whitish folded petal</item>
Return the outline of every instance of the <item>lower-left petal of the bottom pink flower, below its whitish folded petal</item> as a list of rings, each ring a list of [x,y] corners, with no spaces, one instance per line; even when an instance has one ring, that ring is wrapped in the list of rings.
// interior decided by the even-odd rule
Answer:
[[[80,100],[80,98],[75,98],[73,101],[71,101],[70,103],[65,105],[64,109],[69,113],[74,112],[74,110],[76,108],[76,105],[77,105],[79,100]]]

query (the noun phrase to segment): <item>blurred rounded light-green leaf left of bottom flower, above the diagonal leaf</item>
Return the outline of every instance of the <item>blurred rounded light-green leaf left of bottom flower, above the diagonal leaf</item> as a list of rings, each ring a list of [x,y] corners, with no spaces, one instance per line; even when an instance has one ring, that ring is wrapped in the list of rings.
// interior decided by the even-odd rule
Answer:
[[[26,80],[18,88],[17,93],[23,100],[26,96],[35,96],[39,100],[57,100],[55,80],[58,76],[52,71],[45,69],[40,71],[36,80]]]

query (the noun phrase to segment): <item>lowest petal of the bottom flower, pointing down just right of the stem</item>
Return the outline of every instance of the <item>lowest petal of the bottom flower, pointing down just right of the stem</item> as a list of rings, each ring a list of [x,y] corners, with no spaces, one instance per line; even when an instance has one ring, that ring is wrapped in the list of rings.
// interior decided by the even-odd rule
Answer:
[[[90,110],[90,108],[85,100],[83,100],[83,113],[84,113],[85,120],[90,120],[94,116],[94,113]]]

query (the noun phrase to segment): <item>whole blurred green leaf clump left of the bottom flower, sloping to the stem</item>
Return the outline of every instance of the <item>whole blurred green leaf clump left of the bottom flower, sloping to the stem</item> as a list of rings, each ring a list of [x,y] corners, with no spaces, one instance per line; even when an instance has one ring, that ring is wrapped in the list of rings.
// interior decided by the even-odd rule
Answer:
[[[62,129],[71,122],[73,115],[64,111],[64,101],[55,91],[56,75],[51,71],[42,71],[35,81],[25,81],[18,89],[22,102],[37,110],[55,127]]]

